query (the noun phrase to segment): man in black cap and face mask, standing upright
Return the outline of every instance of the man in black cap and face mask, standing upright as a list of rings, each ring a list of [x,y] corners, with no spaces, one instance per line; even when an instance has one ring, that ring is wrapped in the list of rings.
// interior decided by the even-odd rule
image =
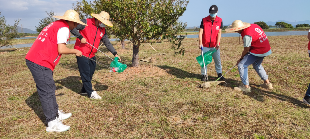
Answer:
[[[199,30],[199,49],[203,47],[203,53],[213,50],[217,50],[213,53],[212,57],[215,63],[215,70],[218,75],[218,78],[222,76],[222,64],[221,56],[219,52],[219,41],[222,36],[223,21],[217,16],[218,8],[216,5],[212,5],[209,9],[210,15],[203,18],[200,24]],[[206,65],[207,66],[207,65]],[[207,67],[206,67],[207,69]],[[201,81],[206,81],[205,68],[201,68],[202,79]],[[224,77],[221,77],[220,80],[224,80]]]

